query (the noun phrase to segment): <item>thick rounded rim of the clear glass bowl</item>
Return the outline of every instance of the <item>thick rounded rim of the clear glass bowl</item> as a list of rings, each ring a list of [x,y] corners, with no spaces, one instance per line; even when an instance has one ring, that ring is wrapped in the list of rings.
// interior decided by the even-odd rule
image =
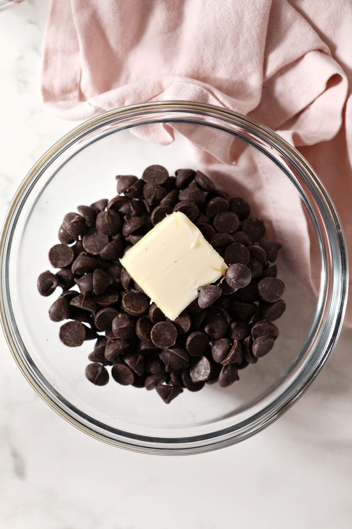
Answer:
[[[224,120],[227,122],[231,121],[234,123],[234,121],[238,124],[241,124],[243,126],[249,127],[251,130],[254,130],[254,134],[257,136],[259,135],[261,139],[264,139],[267,142],[270,142],[271,144],[275,145],[275,148],[281,149],[284,153],[289,154],[289,156],[300,166],[304,172],[306,173],[306,176],[310,179],[310,182],[314,184],[316,190],[318,190],[319,199],[322,200],[322,202],[325,205],[325,208],[327,209],[326,214],[329,216],[329,222],[332,226],[332,229],[334,230],[334,235],[336,238],[336,248],[334,252],[333,258],[339,262],[339,267],[341,268],[339,271],[339,278],[336,279],[337,274],[333,276],[334,281],[334,288],[335,288],[335,299],[337,300],[337,304],[335,307],[334,315],[330,315],[330,322],[329,322],[329,333],[328,338],[326,339],[326,343],[324,343],[323,351],[319,355],[319,358],[315,364],[315,366],[312,367],[312,369],[309,372],[309,376],[307,376],[303,381],[301,381],[301,384],[298,385],[296,388],[291,389],[293,382],[291,383],[289,389],[291,391],[286,391],[287,395],[286,398],[282,399],[282,402],[280,402],[279,406],[275,406],[274,409],[269,409],[265,411],[265,409],[262,411],[261,414],[261,421],[256,421],[255,423],[251,423],[250,425],[245,425],[244,430],[242,433],[239,434],[239,428],[236,430],[233,430],[233,428],[226,428],[225,430],[220,430],[217,432],[213,432],[211,436],[204,434],[201,436],[191,436],[187,437],[185,439],[173,439],[173,440],[160,440],[160,439],[154,439],[153,437],[144,437],[144,436],[135,436],[131,435],[129,437],[125,437],[122,440],[117,440],[116,438],[113,438],[112,435],[109,435],[108,431],[102,431],[101,428],[99,428],[96,425],[96,428],[94,429],[93,425],[89,426],[87,424],[87,421],[83,421],[82,416],[78,416],[76,413],[73,413],[73,410],[66,407],[67,409],[64,409],[62,405],[60,405],[59,402],[55,402],[55,400],[52,398],[51,395],[49,395],[44,388],[38,383],[37,380],[33,378],[31,375],[30,370],[28,370],[26,364],[24,363],[23,359],[21,358],[21,355],[18,354],[16,342],[14,340],[14,336],[12,336],[12,332],[10,329],[10,326],[8,324],[8,314],[5,309],[5,267],[4,267],[4,261],[5,261],[5,252],[6,252],[6,235],[8,232],[8,229],[11,225],[11,221],[13,218],[13,215],[16,211],[17,205],[21,202],[21,199],[23,197],[24,190],[27,188],[28,184],[35,178],[36,175],[39,174],[39,171],[45,166],[45,164],[52,159],[53,156],[60,153],[62,149],[67,147],[70,142],[77,139],[78,136],[81,136],[82,134],[86,133],[87,131],[96,130],[97,127],[100,125],[106,123],[107,121],[111,120],[117,120],[118,118],[122,117],[128,117],[131,115],[134,115],[135,113],[153,113],[153,112],[160,112],[160,111],[166,111],[166,112],[194,112],[199,114],[205,114],[210,117],[217,117],[221,120]],[[167,120],[163,120],[167,121]],[[173,120],[169,120],[173,121]],[[159,119],[155,120],[155,122],[160,122]],[[335,261],[334,261],[335,262]],[[305,393],[305,391],[308,389],[308,387],[312,384],[313,380],[316,379],[316,377],[319,375],[321,370],[325,367],[330,354],[335,348],[336,342],[338,340],[341,327],[343,325],[343,318],[346,310],[346,303],[347,303],[347,291],[348,291],[348,260],[347,260],[347,250],[346,250],[346,242],[345,242],[345,236],[343,232],[343,228],[341,226],[341,222],[338,216],[338,213],[336,211],[335,205],[331,200],[330,195],[328,194],[327,190],[325,189],[324,185],[321,183],[319,177],[317,176],[316,172],[312,169],[312,167],[309,165],[307,160],[303,158],[303,156],[292,147],[287,141],[280,138],[278,134],[273,132],[269,129],[269,127],[256,122],[252,118],[248,116],[244,116],[242,114],[239,114],[237,112],[227,110],[223,107],[218,107],[214,105],[208,105],[205,103],[197,103],[197,102],[187,102],[187,101],[163,101],[163,102],[151,102],[151,103],[141,103],[137,105],[129,105],[125,107],[120,107],[115,110],[111,110],[108,112],[104,112],[102,114],[99,114],[98,116],[92,117],[91,119],[84,121],[74,129],[72,129],[69,133],[65,134],[59,141],[57,141],[50,149],[48,149],[43,156],[34,164],[32,169],[28,172],[24,180],[22,181],[21,185],[18,187],[15,196],[11,202],[11,205],[8,208],[8,212],[5,217],[5,221],[3,224],[2,232],[0,234],[0,269],[1,269],[1,281],[0,281],[0,320],[3,327],[5,339],[7,341],[7,344],[9,346],[9,349],[12,352],[12,355],[20,368],[21,372],[23,373],[24,377],[27,379],[27,381],[30,383],[30,385],[33,387],[33,389],[36,391],[37,394],[40,395],[40,397],[52,408],[56,413],[58,413],[61,417],[66,419],[66,421],[70,422],[73,426],[79,428],[82,432],[85,432],[92,437],[104,441],[106,443],[109,443],[114,446],[119,446],[120,448],[129,449],[137,452],[144,452],[144,453],[154,453],[154,454],[163,454],[163,455],[184,455],[184,454],[192,454],[192,453],[202,453],[210,450],[216,450],[223,448],[225,446],[229,446],[232,444],[235,444],[237,442],[240,442],[244,439],[248,439],[255,433],[258,433],[259,431],[263,430],[265,427],[269,426],[272,422],[274,422],[278,417],[280,417],[283,413],[285,413],[297,400]],[[336,282],[336,284],[335,284]],[[321,346],[321,345],[320,345]],[[280,395],[281,396],[281,395]],[[273,408],[272,404],[268,406],[268,408]],[[125,432],[124,432],[125,433]],[[154,442],[150,441],[141,441],[138,439],[138,437],[144,437],[147,440],[153,440]],[[201,439],[199,439],[201,438]],[[155,442],[158,441],[158,442]],[[160,441],[164,441],[160,443]],[[201,444],[199,444],[199,441],[201,441]]]

